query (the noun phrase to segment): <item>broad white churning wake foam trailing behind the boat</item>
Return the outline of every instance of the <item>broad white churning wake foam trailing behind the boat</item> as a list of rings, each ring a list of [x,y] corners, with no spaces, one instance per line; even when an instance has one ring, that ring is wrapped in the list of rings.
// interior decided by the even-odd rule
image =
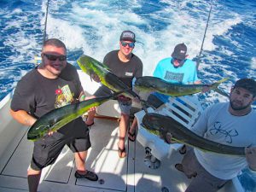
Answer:
[[[183,42],[188,45],[190,58],[198,55],[208,14],[207,10],[201,9],[203,15],[191,16],[191,10],[187,9],[186,5],[189,3],[188,1],[162,2],[168,3],[170,6],[152,12],[148,15],[149,17],[145,18],[133,13],[131,11],[133,7],[131,9],[109,7],[111,3],[114,7],[113,2],[72,3],[71,13],[66,14],[67,18],[61,20],[61,17],[56,19],[52,15],[49,16],[48,33],[50,37],[61,38],[67,44],[67,48],[83,49],[84,54],[92,55],[102,61],[108,51],[119,49],[119,35],[123,30],[129,29],[137,35],[138,43],[134,53],[143,60],[143,74],[150,75],[157,62],[170,56],[172,49],[178,43]],[[133,1],[133,3],[129,3],[129,5],[140,6],[137,1]],[[203,2],[193,3],[198,7],[206,7]],[[196,10],[192,11],[196,12]],[[212,13],[212,15],[214,14]],[[166,23],[166,27],[162,30],[155,30],[154,19],[160,20],[162,15],[165,16],[163,22]],[[214,20],[211,20],[212,23],[209,24],[204,44],[205,50],[215,49],[216,47],[212,43],[214,36],[223,35],[231,26],[241,21],[238,16],[230,20],[217,20],[217,16],[212,17]],[[150,30],[145,31],[144,27],[140,26],[148,26]]]

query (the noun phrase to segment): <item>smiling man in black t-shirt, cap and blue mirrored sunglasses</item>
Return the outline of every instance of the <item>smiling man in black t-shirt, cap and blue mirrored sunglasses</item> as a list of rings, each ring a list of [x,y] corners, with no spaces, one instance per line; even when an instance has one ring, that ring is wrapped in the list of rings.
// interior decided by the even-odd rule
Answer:
[[[132,53],[135,47],[135,34],[131,31],[125,31],[121,33],[119,38],[119,49],[109,52],[103,60],[103,63],[107,65],[112,73],[117,75],[125,84],[129,87],[132,85],[134,78],[141,77],[143,75],[143,62]],[[94,78],[96,81],[99,79]],[[94,96],[109,95],[111,91],[104,85],[99,90],[96,90]],[[119,122],[119,157],[124,158],[126,156],[125,150],[125,135],[127,132],[130,110],[131,110],[131,98],[125,96],[119,96],[119,107],[121,109],[121,118]],[[89,113],[86,124],[94,124],[95,112]]]

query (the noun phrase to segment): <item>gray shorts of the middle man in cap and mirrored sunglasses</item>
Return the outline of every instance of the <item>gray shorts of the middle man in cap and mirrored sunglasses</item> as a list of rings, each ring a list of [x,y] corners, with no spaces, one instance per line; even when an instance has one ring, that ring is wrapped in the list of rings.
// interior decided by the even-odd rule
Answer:
[[[108,87],[105,85],[102,85],[96,92],[93,94],[94,96],[109,96],[110,94],[113,94],[112,90],[109,90]],[[122,100],[117,99],[119,102],[119,108],[121,110],[121,113],[130,115],[131,112],[131,99],[130,100]]]

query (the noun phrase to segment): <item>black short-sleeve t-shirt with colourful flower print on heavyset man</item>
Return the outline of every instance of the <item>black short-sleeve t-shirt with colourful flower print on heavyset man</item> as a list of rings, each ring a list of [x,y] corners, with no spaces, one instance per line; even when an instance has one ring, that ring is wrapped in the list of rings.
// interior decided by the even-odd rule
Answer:
[[[71,64],[67,64],[57,79],[47,79],[34,68],[18,82],[11,108],[14,111],[25,110],[38,119],[55,108],[72,103],[82,90],[79,74]],[[81,118],[61,127],[59,132],[75,136],[79,135],[79,129],[84,129]]]

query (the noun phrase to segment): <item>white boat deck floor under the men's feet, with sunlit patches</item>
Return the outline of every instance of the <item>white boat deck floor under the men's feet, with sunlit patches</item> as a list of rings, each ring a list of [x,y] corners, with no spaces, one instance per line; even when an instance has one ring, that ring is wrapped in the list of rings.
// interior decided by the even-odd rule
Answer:
[[[32,142],[26,140],[26,127],[9,143],[0,160],[0,191],[27,191],[26,169],[32,157]],[[88,169],[99,176],[98,182],[76,179],[73,153],[64,148],[53,166],[44,169],[38,191],[183,191],[189,179],[173,169],[181,156],[161,161],[159,169],[144,164],[145,149],[140,143],[126,143],[128,156],[117,153],[118,122],[96,119],[90,129],[92,147],[86,160]],[[178,177],[177,177],[178,176]],[[175,183],[175,184],[173,184]]]

